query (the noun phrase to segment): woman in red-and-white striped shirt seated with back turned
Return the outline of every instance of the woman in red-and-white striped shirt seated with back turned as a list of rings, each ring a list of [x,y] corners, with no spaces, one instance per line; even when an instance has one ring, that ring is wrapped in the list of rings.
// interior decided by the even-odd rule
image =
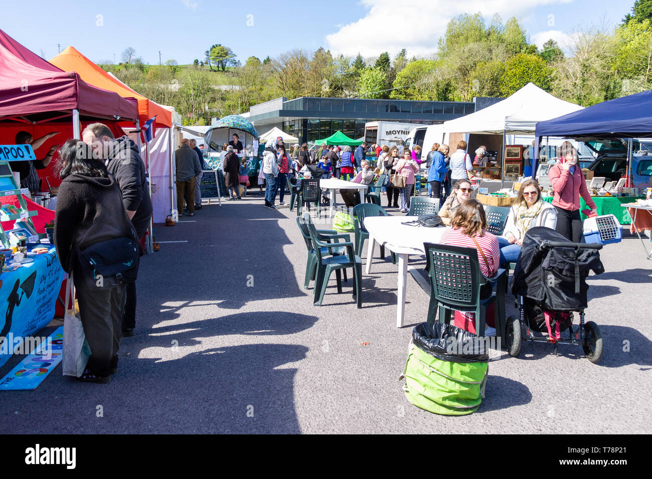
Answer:
[[[478,252],[480,271],[484,276],[493,276],[500,267],[500,248],[497,238],[486,231],[487,219],[484,208],[477,199],[469,199],[462,203],[456,210],[451,220],[451,229],[441,235],[439,242],[449,246],[462,246],[473,248]],[[491,283],[485,283],[480,289],[480,298],[491,296]],[[464,313],[464,329],[475,333],[473,313]],[[494,325],[494,317],[487,315],[486,324]]]

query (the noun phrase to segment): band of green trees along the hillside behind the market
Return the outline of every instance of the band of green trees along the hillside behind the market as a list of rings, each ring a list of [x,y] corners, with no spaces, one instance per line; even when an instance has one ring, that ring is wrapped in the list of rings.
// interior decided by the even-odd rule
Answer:
[[[394,58],[387,52],[347,57],[318,48],[262,61],[249,57],[242,65],[231,48],[215,44],[184,68],[174,60],[143,65],[133,49],[125,50],[120,65],[104,68],[148,98],[175,106],[186,124],[207,124],[279,96],[470,101],[509,96],[530,81],[590,106],[652,88],[651,22],[652,0],[636,0],[614,29],[584,27],[563,48],[550,39],[540,50],[516,18],[503,23],[495,15],[486,23],[480,13],[462,14],[448,23],[430,57],[408,57],[405,49]]]

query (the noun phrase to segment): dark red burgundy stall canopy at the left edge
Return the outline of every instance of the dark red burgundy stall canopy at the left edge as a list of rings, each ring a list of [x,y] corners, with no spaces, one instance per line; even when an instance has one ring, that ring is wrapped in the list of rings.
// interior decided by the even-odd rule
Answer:
[[[0,30],[0,121],[40,123],[70,117],[73,109],[81,119],[138,119],[134,98],[89,85]]]

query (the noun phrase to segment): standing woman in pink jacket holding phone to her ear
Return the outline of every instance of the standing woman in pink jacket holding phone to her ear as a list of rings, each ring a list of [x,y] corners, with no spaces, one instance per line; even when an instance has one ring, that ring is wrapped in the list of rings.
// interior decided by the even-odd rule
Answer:
[[[554,190],[552,205],[557,210],[556,231],[572,242],[582,240],[582,220],[580,219],[580,195],[592,212],[597,207],[586,187],[582,169],[577,166],[577,151],[569,141],[559,147],[559,162],[548,170],[548,177]]]

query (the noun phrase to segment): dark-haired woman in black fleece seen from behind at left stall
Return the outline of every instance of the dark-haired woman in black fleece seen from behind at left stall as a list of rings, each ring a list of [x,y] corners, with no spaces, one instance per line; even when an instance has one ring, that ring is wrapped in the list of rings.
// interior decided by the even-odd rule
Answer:
[[[91,288],[76,254],[96,242],[132,237],[117,183],[91,147],[68,140],[59,151],[63,181],[55,211],[54,242],[61,267],[70,274],[77,291],[80,318],[91,347],[82,381],[108,383],[117,371],[125,285]]]

